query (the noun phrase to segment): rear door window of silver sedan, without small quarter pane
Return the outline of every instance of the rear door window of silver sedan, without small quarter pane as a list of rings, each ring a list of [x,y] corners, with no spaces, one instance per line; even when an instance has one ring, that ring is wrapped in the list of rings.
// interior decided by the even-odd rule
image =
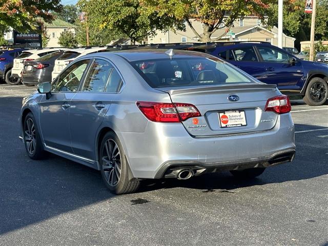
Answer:
[[[87,75],[83,91],[103,92],[113,66],[106,60],[95,59]]]

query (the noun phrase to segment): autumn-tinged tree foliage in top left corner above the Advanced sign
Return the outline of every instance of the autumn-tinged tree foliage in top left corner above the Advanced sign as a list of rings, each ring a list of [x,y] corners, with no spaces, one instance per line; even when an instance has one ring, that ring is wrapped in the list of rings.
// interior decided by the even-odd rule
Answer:
[[[40,18],[51,22],[51,12],[59,12],[61,7],[60,0],[0,0],[0,31],[9,27],[20,32],[37,30]]]

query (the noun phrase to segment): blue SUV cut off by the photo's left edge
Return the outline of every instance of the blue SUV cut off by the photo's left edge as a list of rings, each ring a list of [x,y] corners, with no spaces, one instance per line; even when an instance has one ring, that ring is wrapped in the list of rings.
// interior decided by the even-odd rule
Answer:
[[[17,85],[19,80],[11,76],[13,60],[24,49],[0,50],[0,78],[6,81],[9,85]]]

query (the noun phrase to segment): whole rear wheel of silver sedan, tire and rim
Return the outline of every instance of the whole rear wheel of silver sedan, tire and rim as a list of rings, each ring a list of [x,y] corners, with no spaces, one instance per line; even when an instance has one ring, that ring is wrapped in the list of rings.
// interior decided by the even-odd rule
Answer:
[[[129,181],[129,164],[122,145],[114,132],[108,132],[101,141],[99,148],[101,177],[113,194],[135,192],[139,180]]]

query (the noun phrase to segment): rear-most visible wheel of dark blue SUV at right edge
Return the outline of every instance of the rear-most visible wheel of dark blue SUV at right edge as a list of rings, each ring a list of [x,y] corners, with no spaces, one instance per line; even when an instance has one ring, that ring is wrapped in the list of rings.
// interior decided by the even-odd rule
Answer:
[[[310,106],[323,105],[328,97],[328,84],[322,78],[312,78],[306,88],[303,100]]]

